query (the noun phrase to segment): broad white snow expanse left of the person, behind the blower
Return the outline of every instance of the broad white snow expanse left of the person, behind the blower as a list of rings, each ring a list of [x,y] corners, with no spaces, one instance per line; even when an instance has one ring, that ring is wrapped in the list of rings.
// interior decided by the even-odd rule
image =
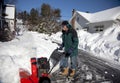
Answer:
[[[10,42],[0,42],[0,83],[19,83],[19,68],[31,73],[31,57],[48,57],[57,44],[37,32],[24,32]],[[47,38],[49,39],[49,38]]]

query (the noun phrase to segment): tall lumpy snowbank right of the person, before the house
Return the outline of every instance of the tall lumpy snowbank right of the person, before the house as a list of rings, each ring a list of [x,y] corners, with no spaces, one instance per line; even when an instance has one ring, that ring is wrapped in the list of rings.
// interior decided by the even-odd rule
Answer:
[[[119,61],[120,57],[120,26],[113,25],[103,33],[89,34],[79,31],[79,48],[101,58]]]

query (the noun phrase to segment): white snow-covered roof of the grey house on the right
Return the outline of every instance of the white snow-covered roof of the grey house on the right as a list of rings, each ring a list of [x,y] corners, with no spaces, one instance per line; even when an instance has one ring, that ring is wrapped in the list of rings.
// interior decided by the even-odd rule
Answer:
[[[76,13],[83,16],[90,23],[109,21],[109,20],[117,19],[117,17],[120,15],[120,6],[107,9],[107,10],[103,10],[100,12],[96,12],[96,13],[85,13],[85,12],[80,12],[80,11],[76,11]]]

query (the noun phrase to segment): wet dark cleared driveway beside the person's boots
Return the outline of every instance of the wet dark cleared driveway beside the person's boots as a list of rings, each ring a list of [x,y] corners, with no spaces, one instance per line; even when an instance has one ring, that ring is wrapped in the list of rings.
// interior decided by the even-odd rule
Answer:
[[[69,81],[58,73],[59,70],[52,74],[52,83],[120,83],[120,70],[83,50],[79,50],[75,80]]]

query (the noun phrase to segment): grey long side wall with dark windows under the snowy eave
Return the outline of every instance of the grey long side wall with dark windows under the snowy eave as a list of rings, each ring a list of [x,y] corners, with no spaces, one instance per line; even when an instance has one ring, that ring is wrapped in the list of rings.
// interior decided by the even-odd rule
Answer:
[[[104,31],[105,29],[112,26],[114,21],[103,21],[98,23],[90,23],[88,24],[88,32],[90,33],[96,33]]]

